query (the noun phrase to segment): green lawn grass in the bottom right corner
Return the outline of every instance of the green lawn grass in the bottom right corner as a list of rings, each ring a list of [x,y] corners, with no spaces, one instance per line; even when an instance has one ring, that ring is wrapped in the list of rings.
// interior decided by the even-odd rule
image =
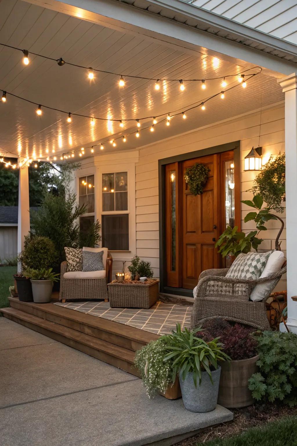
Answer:
[[[285,417],[236,437],[196,443],[196,446],[296,446],[297,417]]]

